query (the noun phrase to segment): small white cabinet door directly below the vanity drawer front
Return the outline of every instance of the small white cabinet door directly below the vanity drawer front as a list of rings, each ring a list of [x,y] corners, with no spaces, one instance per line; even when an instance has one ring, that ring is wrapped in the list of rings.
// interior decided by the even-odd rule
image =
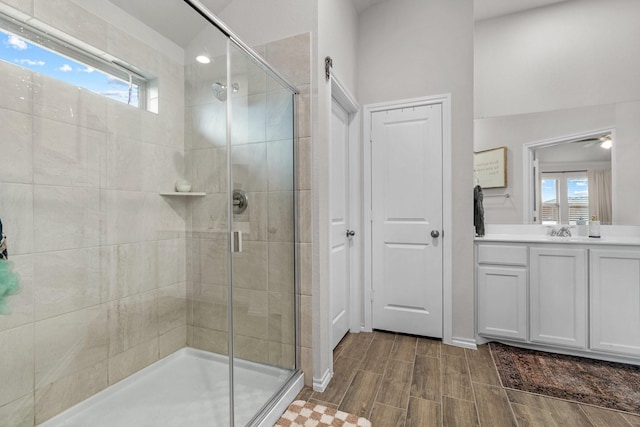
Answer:
[[[478,266],[478,334],[527,339],[527,269]]]

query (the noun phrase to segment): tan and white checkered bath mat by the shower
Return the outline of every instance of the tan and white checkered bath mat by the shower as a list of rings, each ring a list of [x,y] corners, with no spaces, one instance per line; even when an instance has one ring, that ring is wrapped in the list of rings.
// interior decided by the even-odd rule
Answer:
[[[371,427],[366,418],[328,408],[323,405],[296,400],[280,417],[274,427]]]

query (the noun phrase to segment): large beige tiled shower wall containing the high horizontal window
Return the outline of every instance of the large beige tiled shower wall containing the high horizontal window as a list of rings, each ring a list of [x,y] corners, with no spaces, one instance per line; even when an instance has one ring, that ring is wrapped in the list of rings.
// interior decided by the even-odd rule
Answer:
[[[159,114],[0,62],[0,424],[31,426],[186,343],[184,68],[68,0],[4,0],[158,78]],[[172,231],[173,230],[173,231]],[[178,232],[176,232],[176,230]]]

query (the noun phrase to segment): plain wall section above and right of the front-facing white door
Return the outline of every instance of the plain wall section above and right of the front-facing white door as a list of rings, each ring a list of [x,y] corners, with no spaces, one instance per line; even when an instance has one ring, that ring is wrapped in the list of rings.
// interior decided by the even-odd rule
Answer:
[[[453,337],[473,339],[473,2],[393,0],[358,31],[362,104],[452,94]]]

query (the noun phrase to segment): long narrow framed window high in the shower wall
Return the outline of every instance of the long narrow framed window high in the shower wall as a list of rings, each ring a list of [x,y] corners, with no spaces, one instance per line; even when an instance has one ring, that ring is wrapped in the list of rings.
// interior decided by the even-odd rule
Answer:
[[[28,24],[0,14],[0,60],[88,89],[107,98],[146,106],[146,79]]]

